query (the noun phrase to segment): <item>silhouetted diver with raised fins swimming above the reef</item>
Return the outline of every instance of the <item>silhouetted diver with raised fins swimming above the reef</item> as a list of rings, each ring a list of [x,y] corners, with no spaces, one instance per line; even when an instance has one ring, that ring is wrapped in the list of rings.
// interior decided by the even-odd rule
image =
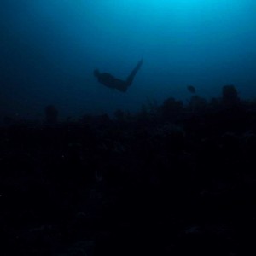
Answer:
[[[95,69],[93,73],[99,83],[107,86],[108,88],[113,88],[125,92],[132,84],[133,79],[135,78],[138,70],[140,69],[140,67],[142,67],[142,65],[143,59],[141,61],[138,61],[137,66],[132,69],[130,75],[127,77],[126,80],[117,79],[113,77],[113,75],[110,73],[100,73],[98,69]]]

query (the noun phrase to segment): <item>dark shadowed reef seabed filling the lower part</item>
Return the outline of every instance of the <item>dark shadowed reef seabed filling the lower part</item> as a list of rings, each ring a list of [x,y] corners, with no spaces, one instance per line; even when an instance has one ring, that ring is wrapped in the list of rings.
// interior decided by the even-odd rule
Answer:
[[[255,102],[7,121],[1,255],[255,255]]]

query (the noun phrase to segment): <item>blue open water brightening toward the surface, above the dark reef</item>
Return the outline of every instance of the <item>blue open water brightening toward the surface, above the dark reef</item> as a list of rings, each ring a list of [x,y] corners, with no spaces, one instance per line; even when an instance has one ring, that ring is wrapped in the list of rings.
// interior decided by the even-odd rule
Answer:
[[[0,118],[137,111],[188,85],[206,98],[225,84],[256,96],[254,0],[2,0]],[[99,68],[125,79],[143,67],[125,93],[99,84]]]

